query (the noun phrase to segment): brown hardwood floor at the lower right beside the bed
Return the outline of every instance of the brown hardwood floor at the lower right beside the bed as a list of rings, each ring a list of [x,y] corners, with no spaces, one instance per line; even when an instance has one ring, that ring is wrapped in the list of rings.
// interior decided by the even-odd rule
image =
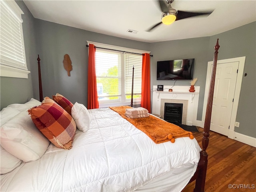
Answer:
[[[202,148],[203,129],[193,132]],[[205,192],[256,191],[256,148],[210,131]],[[228,187],[232,184],[231,189]],[[193,192],[195,182],[182,192]]]

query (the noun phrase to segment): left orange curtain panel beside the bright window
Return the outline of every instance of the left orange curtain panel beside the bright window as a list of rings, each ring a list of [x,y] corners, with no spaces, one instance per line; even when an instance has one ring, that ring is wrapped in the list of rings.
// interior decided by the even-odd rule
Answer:
[[[94,44],[89,44],[88,57],[88,109],[99,108],[96,68],[95,68],[95,52]]]

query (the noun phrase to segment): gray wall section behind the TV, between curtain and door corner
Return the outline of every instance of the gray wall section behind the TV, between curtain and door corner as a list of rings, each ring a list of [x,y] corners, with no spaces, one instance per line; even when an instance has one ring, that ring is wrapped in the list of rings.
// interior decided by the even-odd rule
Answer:
[[[191,38],[184,40],[173,40],[166,42],[156,42],[150,44],[150,51],[154,55],[151,58],[151,86],[153,85],[174,85],[174,80],[156,80],[157,61],[173,59],[195,58],[194,77],[198,78],[196,86],[200,86],[199,104],[197,119],[202,120],[202,110],[204,102],[204,88],[206,81],[206,71],[208,62],[208,47],[210,37]],[[215,42],[216,43],[216,42]],[[214,47],[215,44],[212,45]],[[214,52],[214,49],[212,49]],[[213,54],[212,54],[213,57]],[[190,86],[190,80],[177,80],[176,85]],[[175,90],[175,86],[173,90]]]

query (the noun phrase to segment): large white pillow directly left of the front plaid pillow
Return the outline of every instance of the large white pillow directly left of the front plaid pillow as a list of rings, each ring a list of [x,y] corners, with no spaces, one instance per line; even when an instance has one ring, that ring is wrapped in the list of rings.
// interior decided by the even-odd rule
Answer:
[[[24,162],[41,158],[50,143],[36,128],[26,110],[14,116],[0,129],[2,147]]]

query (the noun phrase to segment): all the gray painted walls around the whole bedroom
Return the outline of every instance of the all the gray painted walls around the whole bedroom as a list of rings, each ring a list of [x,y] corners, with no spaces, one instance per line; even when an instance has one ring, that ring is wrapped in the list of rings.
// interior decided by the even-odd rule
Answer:
[[[220,38],[218,59],[246,56],[242,80],[238,114],[236,121],[240,127],[235,131],[256,138],[256,22],[211,37],[191,38],[166,42],[146,43],[86,30],[80,30],[32,17],[22,1],[17,1],[25,13],[23,32],[28,69],[28,79],[0,78],[1,108],[10,103],[22,103],[31,97],[39,99],[37,54],[40,54],[44,96],[51,97],[57,92],[71,102],[87,106],[88,48],[86,40],[151,51],[151,86],[157,84],[173,85],[174,81],[156,80],[156,62],[180,58],[195,58],[194,77],[200,86],[197,119],[202,120],[204,89],[207,62],[213,60],[214,45]],[[63,67],[64,54],[69,54],[73,70],[67,75]],[[188,80],[180,80],[176,85],[189,85]]]

